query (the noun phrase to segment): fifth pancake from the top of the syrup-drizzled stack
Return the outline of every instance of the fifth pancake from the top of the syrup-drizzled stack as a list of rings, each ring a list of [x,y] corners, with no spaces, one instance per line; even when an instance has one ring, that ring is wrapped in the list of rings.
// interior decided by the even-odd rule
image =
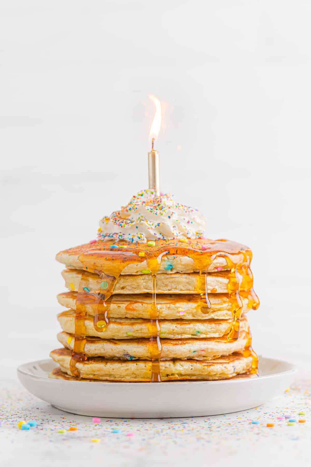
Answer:
[[[242,327],[242,326],[241,326]],[[229,342],[227,337],[214,339],[161,339],[160,360],[191,359],[212,360],[214,358],[241,352],[247,345],[248,326],[243,326],[238,340]],[[73,350],[74,336],[69,333],[57,334],[58,341]],[[84,352],[87,357],[105,357],[109,360],[151,360],[149,339],[98,339],[86,338]]]

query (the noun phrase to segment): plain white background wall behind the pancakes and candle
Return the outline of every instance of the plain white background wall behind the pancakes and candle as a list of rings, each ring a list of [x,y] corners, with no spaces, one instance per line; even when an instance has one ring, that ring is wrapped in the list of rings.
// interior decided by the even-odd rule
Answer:
[[[1,1],[6,380],[57,347],[55,254],[147,187],[149,93],[162,191],[253,249],[255,349],[308,362],[310,24],[302,0]]]

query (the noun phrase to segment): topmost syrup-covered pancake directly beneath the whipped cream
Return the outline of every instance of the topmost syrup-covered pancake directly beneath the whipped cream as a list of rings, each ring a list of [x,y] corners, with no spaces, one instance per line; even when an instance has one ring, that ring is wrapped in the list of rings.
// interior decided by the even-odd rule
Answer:
[[[206,258],[207,256],[211,257],[211,261],[206,269],[208,272],[230,269],[233,263],[240,265],[245,263],[249,265],[252,259],[252,252],[248,247],[227,240],[212,241],[208,239],[188,239],[186,242],[180,240],[156,240],[154,246],[136,243],[128,244],[127,242],[120,241],[116,243],[116,246],[123,248],[113,249],[111,245],[113,245],[113,241],[99,240],[96,242],[93,241],[92,243],[85,243],[78,247],[60,251],[56,255],[56,259],[65,264],[67,268],[82,269],[84,264],[81,262],[80,255],[85,251],[94,251],[100,248],[101,250],[107,251],[108,254],[119,254],[118,260],[120,262],[124,261],[126,252],[130,252],[131,255],[135,255],[135,261],[128,262],[121,271],[121,274],[126,275],[141,274],[142,270],[149,269],[148,259],[146,258],[150,256],[157,258],[157,262],[160,263],[157,272],[162,274],[198,272],[199,260],[201,257],[205,256]],[[167,254],[168,251],[169,254]],[[145,254],[146,258],[139,256],[139,254]],[[197,262],[190,257],[192,254],[198,259]],[[91,257],[91,255],[92,252],[89,257],[91,261],[93,261],[94,268],[96,269],[97,267],[98,269],[102,258],[96,258],[96,253],[92,255],[93,257]]]

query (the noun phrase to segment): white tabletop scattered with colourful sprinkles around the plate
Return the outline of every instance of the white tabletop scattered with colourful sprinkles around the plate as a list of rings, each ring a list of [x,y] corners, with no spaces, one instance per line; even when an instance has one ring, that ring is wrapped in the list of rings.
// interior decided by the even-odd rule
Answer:
[[[311,378],[305,375],[280,396],[252,410],[193,418],[102,417],[99,424],[92,417],[62,412],[29,394],[14,379],[8,381],[0,391],[2,467],[72,466],[73,462],[75,466],[100,462],[109,467],[310,465]],[[277,419],[283,415],[294,417],[297,423],[288,425],[288,420]],[[299,423],[299,419],[306,422]],[[20,430],[21,420],[35,420],[37,426]],[[252,420],[260,424],[253,425]],[[67,431],[71,426],[78,430]],[[62,429],[66,432],[59,433]]]

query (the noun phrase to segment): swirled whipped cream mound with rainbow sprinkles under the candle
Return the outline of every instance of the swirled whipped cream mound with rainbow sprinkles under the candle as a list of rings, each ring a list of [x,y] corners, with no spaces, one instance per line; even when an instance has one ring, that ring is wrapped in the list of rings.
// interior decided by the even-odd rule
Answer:
[[[120,211],[100,220],[98,239],[146,243],[202,238],[205,228],[205,216],[198,209],[176,203],[171,194],[156,196],[154,190],[143,190]]]

